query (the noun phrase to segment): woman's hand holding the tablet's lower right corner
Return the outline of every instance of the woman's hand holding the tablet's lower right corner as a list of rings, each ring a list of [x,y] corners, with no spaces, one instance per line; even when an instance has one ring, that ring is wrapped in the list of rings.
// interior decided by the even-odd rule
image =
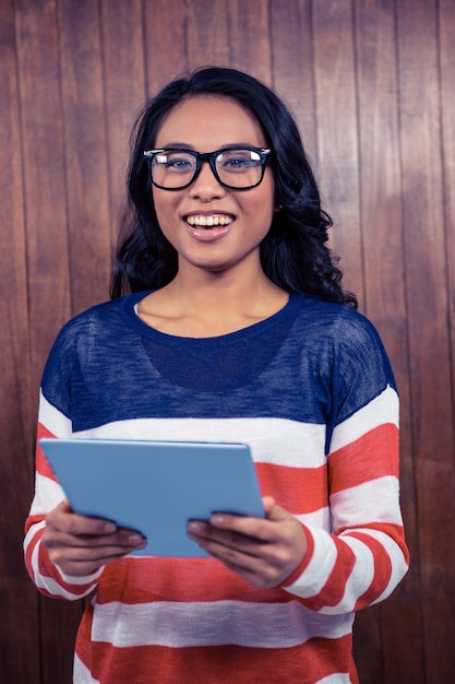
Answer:
[[[256,587],[278,587],[307,552],[300,522],[275,500],[263,498],[266,519],[215,514],[188,523],[189,536],[226,567]]]

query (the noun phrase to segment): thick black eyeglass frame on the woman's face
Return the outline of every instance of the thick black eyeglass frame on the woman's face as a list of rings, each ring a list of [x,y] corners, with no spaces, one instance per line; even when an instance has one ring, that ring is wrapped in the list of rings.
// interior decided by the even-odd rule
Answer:
[[[230,186],[227,182],[224,182],[219,175],[218,175],[218,169],[216,168],[216,157],[219,154],[223,154],[224,152],[232,152],[232,150],[248,150],[249,152],[255,152],[261,160],[261,177],[258,180],[258,182],[255,182],[253,186],[247,186],[244,188],[239,188],[238,186]],[[156,154],[163,154],[164,152],[184,152],[187,154],[191,154],[193,157],[195,157],[196,160],[196,165],[194,167],[194,174],[191,178],[191,180],[189,180],[188,182],[185,182],[183,186],[179,186],[178,188],[165,188],[164,186],[158,185],[154,179],[153,179],[153,173],[152,173],[152,163],[153,163],[153,158]],[[152,184],[156,187],[159,188],[160,190],[169,190],[170,192],[177,191],[177,190],[184,190],[185,188],[189,188],[194,180],[197,178],[199,174],[201,173],[201,168],[202,165],[204,164],[204,162],[208,162],[209,167],[216,178],[216,180],[219,182],[220,186],[223,186],[224,188],[228,188],[229,190],[252,190],[253,188],[256,188],[259,185],[261,185],[263,178],[264,178],[264,174],[265,174],[265,167],[268,161],[268,157],[272,153],[272,150],[266,149],[266,148],[254,148],[254,146],[232,146],[232,148],[223,148],[221,150],[215,150],[215,152],[195,152],[194,150],[187,150],[187,148],[160,148],[158,150],[144,150],[144,156],[147,160],[148,163],[148,169],[149,169],[149,176],[151,176],[151,181]]]

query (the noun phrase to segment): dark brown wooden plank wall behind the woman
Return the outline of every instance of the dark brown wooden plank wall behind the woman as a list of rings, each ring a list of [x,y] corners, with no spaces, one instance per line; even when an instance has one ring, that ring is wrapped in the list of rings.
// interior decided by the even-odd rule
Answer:
[[[70,682],[81,605],[39,597],[21,551],[40,373],[107,298],[135,114],[207,63],[287,98],[400,389],[412,567],[358,616],[361,682],[453,681],[454,28],[454,0],[0,0],[1,682]]]

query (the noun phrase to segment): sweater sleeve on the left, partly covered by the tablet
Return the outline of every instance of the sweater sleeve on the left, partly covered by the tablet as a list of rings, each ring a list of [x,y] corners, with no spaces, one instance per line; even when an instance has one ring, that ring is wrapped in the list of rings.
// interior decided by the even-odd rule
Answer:
[[[62,331],[63,332],[63,331]],[[36,446],[35,496],[25,522],[25,565],[37,589],[48,595],[76,600],[87,595],[97,583],[103,568],[87,577],[70,577],[51,563],[41,544],[46,516],[64,499],[64,493],[39,446],[41,437],[71,437],[70,373],[74,363],[73,345],[60,334],[49,355],[40,389]]]

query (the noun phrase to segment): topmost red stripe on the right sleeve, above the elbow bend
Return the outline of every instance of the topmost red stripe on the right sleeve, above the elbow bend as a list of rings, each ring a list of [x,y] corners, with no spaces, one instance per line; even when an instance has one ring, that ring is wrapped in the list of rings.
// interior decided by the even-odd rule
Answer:
[[[398,477],[398,429],[380,425],[328,457],[331,494],[378,477]]]

